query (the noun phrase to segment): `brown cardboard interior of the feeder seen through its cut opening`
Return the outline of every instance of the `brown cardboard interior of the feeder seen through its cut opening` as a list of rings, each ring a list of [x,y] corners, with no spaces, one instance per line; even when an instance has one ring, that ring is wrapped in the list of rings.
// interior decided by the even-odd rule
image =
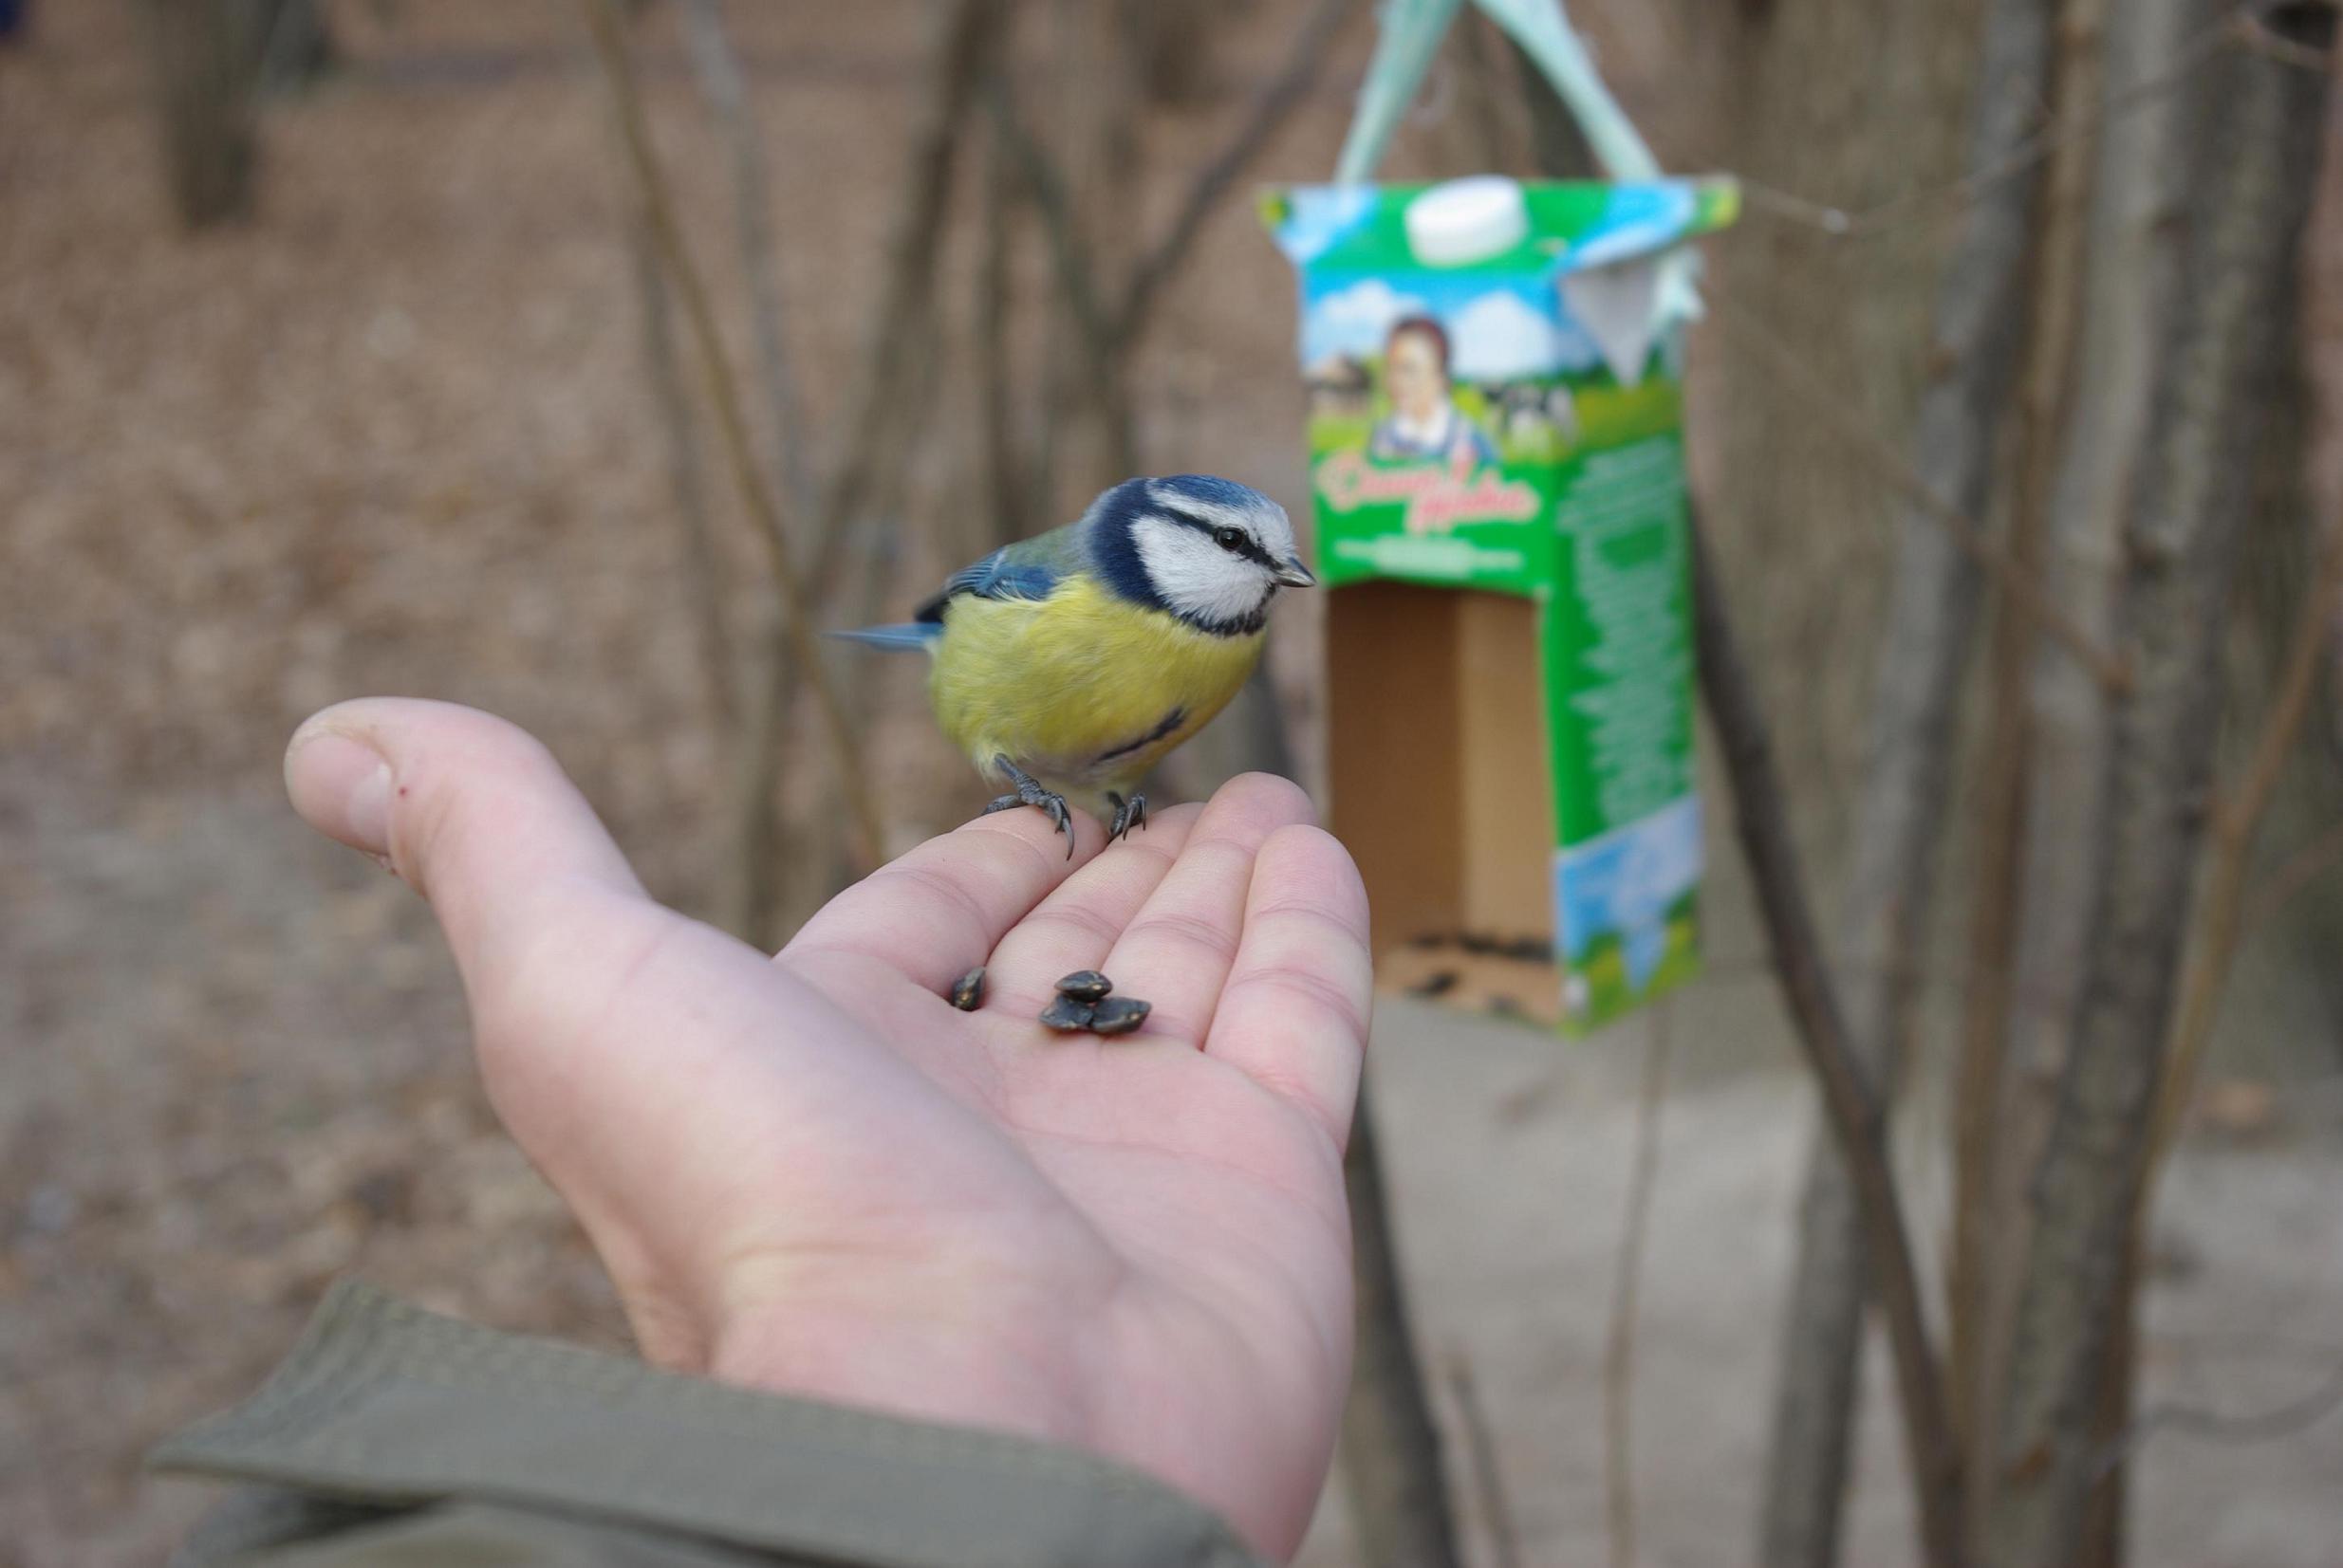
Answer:
[[[1357,583],[1326,601],[1328,793],[1375,910],[1375,976],[1560,1020],[1537,606]]]

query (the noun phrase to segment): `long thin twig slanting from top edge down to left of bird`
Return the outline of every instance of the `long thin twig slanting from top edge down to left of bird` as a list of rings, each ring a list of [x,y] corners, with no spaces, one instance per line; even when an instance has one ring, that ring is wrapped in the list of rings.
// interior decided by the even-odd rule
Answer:
[[[806,613],[804,583],[797,576],[797,562],[790,559],[790,534],[780,522],[773,491],[766,487],[764,473],[757,468],[757,456],[747,438],[747,421],[740,414],[740,388],[733,384],[731,363],[724,358],[724,339],[717,332],[715,311],[708,304],[708,290],[701,283],[701,274],[691,262],[689,248],[684,246],[682,227],[675,222],[675,204],[668,199],[665,176],[658,169],[658,159],[651,154],[651,133],[642,117],[642,98],[635,91],[635,70],[626,54],[626,37],[619,33],[616,5],[614,0],[579,0],[579,7],[586,12],[595,54],[602,59],[602,75],[609,82],[614,103],[619,105],[619,126],[626,133],[628,164],[635,171],[635,185],[644,215],[651,222],[651,234],[658,241],[668,276],[675,281],[677,295],[682,295],[684,318],[691,323],[691,335],[701,351],[701,365],[708,374],[708,400],[717,412],[717,431],[724,435],[724,452],[731,459],[733,482],[740,489],[740,501],[747,506],[750,517],[757,520],[757,529],[766,541],[773,580],[780,587],[785,634],[797,653],[797,662],[804,669],[806,681],[813,686],[815,704],[822,714],[822,728],[829,730],[829,744],[839,768],[839,793],[846,796],[846,810],[853,814],[855,831],[862,835],[865,854],[869,854],[872,864],[876,864],[879,857],[886,854],[886,831],[879,824],[879,805],[872,793],[872,782],[862,772],[862,747],[855,740],[853,725],[846,721],[846,707],[839,702],[839,695],[829,683],[829,674],[822,669],[820,648],[813,641],[813,623]]]

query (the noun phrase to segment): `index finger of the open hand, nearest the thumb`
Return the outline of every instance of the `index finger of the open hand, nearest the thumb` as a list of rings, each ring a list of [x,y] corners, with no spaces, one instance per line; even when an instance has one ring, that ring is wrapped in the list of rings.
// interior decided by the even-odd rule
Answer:
[[[862,960],[942,992],[977,964],[1106,843],[1106,828],[1073,814],[1066,838],[1040,812],[977,817],[881,866],[808,920],[785,964]]]

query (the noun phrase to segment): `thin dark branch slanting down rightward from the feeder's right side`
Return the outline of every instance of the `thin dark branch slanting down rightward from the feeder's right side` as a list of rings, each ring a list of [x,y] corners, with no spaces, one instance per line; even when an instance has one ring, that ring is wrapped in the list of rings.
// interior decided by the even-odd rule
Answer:
[[[1945,1381],[1928,1343],[1912,1231],[1895,1196],[1886,1154],[1886,1112],[1846,1046],[1839,997],[1823,960],[1823,941],[1806,899],[1806,875],[1790,838],[1790,805],[1774,770],[1764,709],[1724,611],[1699,513],[1692,515],[1694,651],[1701,695],[1717,725],[1724,772],[1734,791],[1734,828],[1750,866],[1776,976],[1806,1065],[1823,1091],[1823,1114],[1839,1140],[1863,1210],[1867,1261],[1879,1313],[1895,1360],[1898,1409],[1912,1463],[1914,1512],[1924,1556],[1933,1568],[1968,1561],[1961,1517],[1961,1446],[1945,1409]]]

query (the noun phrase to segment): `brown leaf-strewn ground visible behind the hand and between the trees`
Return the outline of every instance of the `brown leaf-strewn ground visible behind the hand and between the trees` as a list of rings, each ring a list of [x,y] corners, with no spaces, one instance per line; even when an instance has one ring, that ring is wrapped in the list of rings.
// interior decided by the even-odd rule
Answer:
[[[921,7],[736,12],[822,417]],[[1221,59],[1277,59],[1296,14],[1254,7]],[[426,913],[307,835],[276,784],[284,737],[323,702],[476,702],[560,754],[656,892],[705,896],[717,744],[609,129],[565,5],[335,16],[349,68],[272,108],[260,222],[201,239],[166,220],[127,5],[47,5],[0,54],[0,1563],[19,1568],[159,1561],[209,1493],[141,1479],[141,1449],[244,1390],[335,1273],[623,1343],[600,1271],[478,1095]],[[1263,173],[1331,166],[1364,42],[1354,28]],[[719,150],[665,30],[647,70],[694,232],[726,234]],[[1251,80],[1153,119],[1157,166],[1200,161]],[[1432,133],[1410,136],[1432,157]],[[701,250],[738,300],[729,246]],[[965,297],[968,257],[949,262]],[[1141,365],[1162,466],[1300,501],[1289,288],[1230,204]],[[970,503],[951,461],[968,426],[937,417],[916,513]],[[1307,618],[1284,637],[1305,688]],[[911,838],[972,786],[890,681],[874,772]],[[1717,866],[1715,978],[1675,1009],[1645,1292],[1652,1563],[1748,1554],[1806,1116],[1722,845]],[[2231,1084],[2226,1130],[2174,1172],[2151,1402],[2263,1409],[2343,1360],[2343,1098],[2284,1048],[2327,1037],[2303,988],[2249,978],[2273,1002],[2233,1030],[2233,1060],[2280,1093],[2273,1109]],[[1378,1030],[1425,1346],[1474,1371],[1523,1561],[1596,1561],[1596,1369],[1640,1030],[1565,1051],[1408,1004]],[[1914,1119],[1940,1116],[1924,1088]],[[1940,1222],[1945,1172],[1921,1156],[1914,1182]],[[1453,1425],[1446,1383],[1441,1402]],[[1863,1563],[1905,1561],[1879,1416]],[[2256,1446],[2158,1432],[2139,1561],[2343,1563],[2338,1481],[2343,1416]],[[1352,1561],[1338,1507],[1305,1561]]]

